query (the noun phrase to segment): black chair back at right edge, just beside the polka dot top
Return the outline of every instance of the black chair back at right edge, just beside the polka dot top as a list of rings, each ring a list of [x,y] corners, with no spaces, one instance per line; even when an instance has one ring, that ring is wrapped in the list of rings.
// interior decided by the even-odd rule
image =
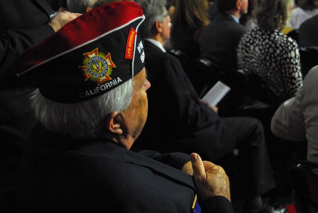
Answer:
[[[318,65],[318,47],[317,46],[300,46],[300,64],[301,74],[305,78],[308,71]]]

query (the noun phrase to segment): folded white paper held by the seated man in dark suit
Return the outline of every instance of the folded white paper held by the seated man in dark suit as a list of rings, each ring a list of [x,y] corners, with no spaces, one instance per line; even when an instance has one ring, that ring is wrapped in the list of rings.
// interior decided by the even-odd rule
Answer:
[[[230,87],[218,81],[209,90],[209,92],[205,94],[205,96],[202,98],[202,101],[208,103],[210,106],[216,106],[230,90]]]

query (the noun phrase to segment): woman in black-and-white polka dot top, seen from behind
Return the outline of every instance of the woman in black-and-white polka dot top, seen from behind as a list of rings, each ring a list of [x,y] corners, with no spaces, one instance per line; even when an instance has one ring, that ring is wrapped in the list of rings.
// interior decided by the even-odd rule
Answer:
[[[258,27],[246,32],[238,47],[238,67],[259,75],[280,102],[302,87],[297,43],[282,34],[292,0],[256,1]]]

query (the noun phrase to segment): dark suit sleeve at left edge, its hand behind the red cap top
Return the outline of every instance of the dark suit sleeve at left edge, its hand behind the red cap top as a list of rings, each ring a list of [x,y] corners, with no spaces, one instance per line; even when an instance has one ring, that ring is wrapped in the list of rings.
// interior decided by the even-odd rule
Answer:
[[[31,46],[54,33],[50,25],[42,25],[27,30],[0,31],[0,81],[1,88],[11,87],[15,73],[11,71],[12,63]]]

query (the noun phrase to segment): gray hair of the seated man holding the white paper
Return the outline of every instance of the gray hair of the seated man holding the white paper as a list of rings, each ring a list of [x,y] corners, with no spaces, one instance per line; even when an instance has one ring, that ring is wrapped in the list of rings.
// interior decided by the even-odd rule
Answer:
[[[168,15],[166,0],[137,0],[135,1],[142,7],[145,15],[145,38],[156,35],[156,21],[164,22]]]

